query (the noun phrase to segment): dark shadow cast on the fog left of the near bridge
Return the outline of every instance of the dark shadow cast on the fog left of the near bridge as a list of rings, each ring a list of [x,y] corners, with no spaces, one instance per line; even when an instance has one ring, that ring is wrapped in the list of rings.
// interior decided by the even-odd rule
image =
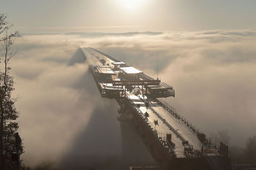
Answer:
[[[63,156],[60,169],[103,169],[119,163],[119,124],[113,122],[111,103],[96,107],[87,127],[78,134],[66,156]]]

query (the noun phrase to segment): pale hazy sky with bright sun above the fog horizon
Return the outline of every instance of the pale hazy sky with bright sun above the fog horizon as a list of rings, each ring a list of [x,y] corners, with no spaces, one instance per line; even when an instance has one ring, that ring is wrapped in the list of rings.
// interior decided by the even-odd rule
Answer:
[[[0,0],[22,32],[255,29],[254,0]]]

